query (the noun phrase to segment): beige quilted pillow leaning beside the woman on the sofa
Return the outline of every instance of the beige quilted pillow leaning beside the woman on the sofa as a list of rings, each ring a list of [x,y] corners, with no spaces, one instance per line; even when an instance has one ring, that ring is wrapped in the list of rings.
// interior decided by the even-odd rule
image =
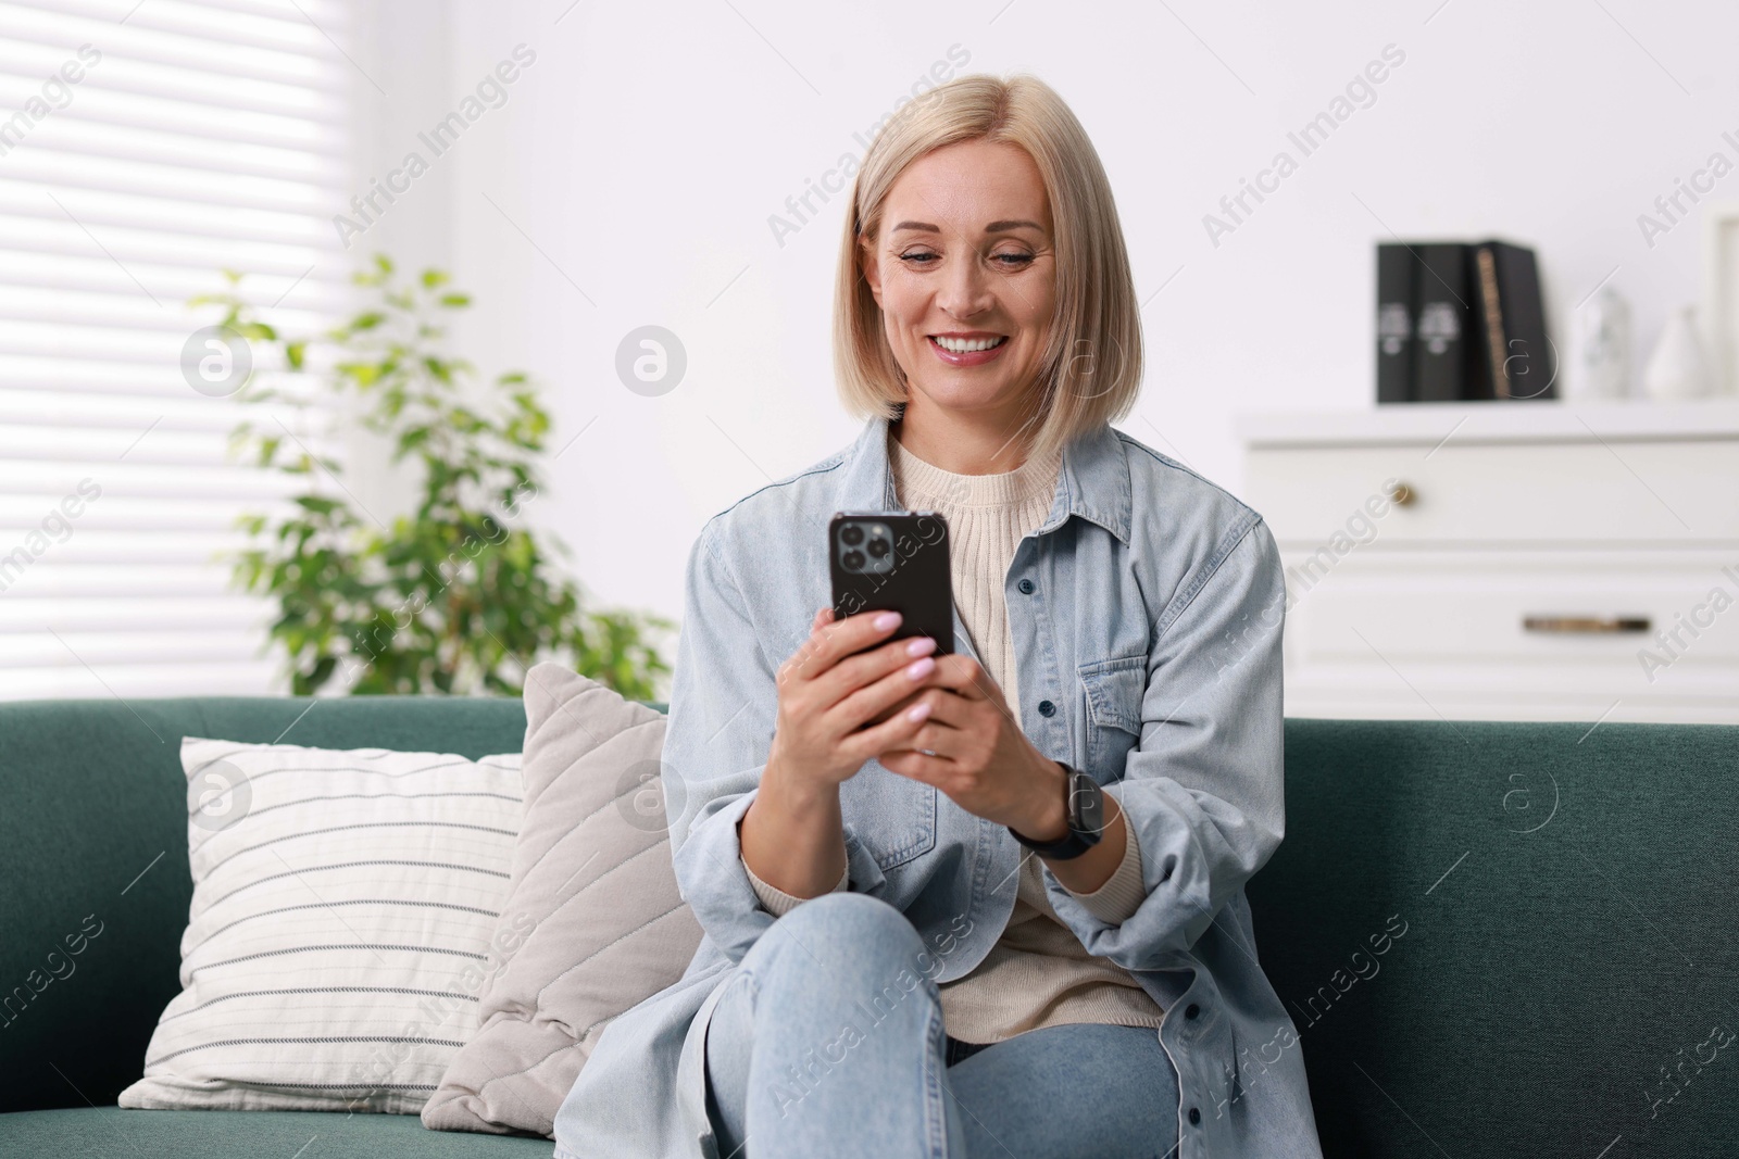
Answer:
[[[676,982],[701,942],[659,798],[664,716],[539,664],[525,718],[525,811],[496,926],[511,949],[423,1109],[438,1131],[551,1135],[603,1027]]]

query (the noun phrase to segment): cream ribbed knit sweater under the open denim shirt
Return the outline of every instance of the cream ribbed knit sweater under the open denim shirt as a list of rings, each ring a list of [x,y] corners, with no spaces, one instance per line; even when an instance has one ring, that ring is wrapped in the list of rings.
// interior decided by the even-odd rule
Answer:
[[[889,460],[901,504],[948,520],[955,605],[1019,726],[1017,697],[1009,697],[1019,685],[1003,584],[1021,539],[1050,513],[1063,457],[1054,452],[1003,474],[955,474],[923,462],[889,436]],[[1075,1022],[1158,1027],[1163,1011],[1129,971],[1089,954],[1057,919],[1045,897],[1042,867],[1031,853],[1023,858],[1014,912],[1002,938],[972,973],[941,987],[948,1034],[965,1043],[1000,1043],[1023,1030]],[[753,872],[750,884],[772,914],[800,904]],[[835,888],[847,888],[847,881]],[[1141,846],[1127,841],[1109,881],[1075,898],[1108,923],[1134,914],[1144,898]]]

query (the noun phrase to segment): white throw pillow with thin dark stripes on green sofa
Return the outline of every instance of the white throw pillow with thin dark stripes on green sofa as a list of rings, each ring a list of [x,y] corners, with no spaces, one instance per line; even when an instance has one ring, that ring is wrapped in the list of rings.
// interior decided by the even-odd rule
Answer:
[[[188,737],[181,994],[122,1107],[416,1114],[511,956],[520,756]]]

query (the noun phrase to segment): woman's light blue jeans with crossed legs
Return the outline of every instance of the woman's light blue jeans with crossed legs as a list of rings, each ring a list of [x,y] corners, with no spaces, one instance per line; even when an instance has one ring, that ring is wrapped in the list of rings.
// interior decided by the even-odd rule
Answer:
[[[1156,1030],[1087,1023],[955,1043],[936,963],[904,914],[863,893],[776,921],[706,1029],[720,1159],[1176,1152],[1177,1074]]]

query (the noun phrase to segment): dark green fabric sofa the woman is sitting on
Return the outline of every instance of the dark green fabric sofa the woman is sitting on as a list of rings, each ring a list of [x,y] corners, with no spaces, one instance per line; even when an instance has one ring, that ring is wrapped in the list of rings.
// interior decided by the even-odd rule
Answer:
[[[0,1156],[550,1154],[410,1116],[113,1105],[177,990],[183,735],[482,756],[523,728],[515,700],[0,704]],[[1739,728],[1294,719],[1287,806],[1250,904],[1327,1156],[1739,1154],[1739,1050],[1716,1046],[1739,1030]],[[90,914],[77,970],[31,992]],[[1263,1050],[1289,1046],[1254,1048],[1254,1081]]]

